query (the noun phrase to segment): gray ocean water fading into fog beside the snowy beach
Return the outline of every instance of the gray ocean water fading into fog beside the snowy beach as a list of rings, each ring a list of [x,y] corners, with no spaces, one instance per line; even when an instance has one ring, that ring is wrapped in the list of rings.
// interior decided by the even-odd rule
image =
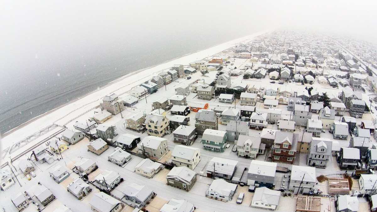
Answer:
[[[20,54],[21,58],[7,57],[0,61],[0,132],[7,132],[130,72],[250,33],[250,30],[221,34],[187,32],[164,39],[93,43],[89,48],[69,44],[59,48],[37,46],[34,51]]]

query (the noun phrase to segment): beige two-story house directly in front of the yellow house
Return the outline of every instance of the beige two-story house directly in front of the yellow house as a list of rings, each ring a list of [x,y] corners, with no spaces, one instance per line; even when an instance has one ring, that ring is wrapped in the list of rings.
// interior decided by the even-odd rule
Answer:
[[[138,144],[139,152],[150,158],[161,160],[169,151],[166,138],[160,138],[153,135],[147,136]]]

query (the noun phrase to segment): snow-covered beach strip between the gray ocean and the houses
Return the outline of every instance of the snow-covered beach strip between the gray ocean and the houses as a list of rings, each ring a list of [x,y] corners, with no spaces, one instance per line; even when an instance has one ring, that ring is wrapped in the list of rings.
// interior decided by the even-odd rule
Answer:
[[[132,89],[134,86],[149,80],[153,75],[161,72],[164,69],[168,69],[174,64],[182,64],[187,65],[190,61],[200,60],[202,58],[206,58],[208,56],[217,54],[225,49],[228,49],[240,42],[247,42],[254,37],[264,34],[265,32],[257,32],[251,35],[247,35],[245,37],[237,38],[220,45],[213,46],[211,48],[195,52],[193,54],[185,55],[184,57],[177,58],[175,60],[163,63],[158,66],[154,66],[152,68],[148,68],[145,70],[139,70],[132,72],[131,74],[127,74],[118,80],[115,80],[109,84],[100,88],[101,85],[98,85],[97,91],[93,91],[90,94],[87,94],[84,97],[79,98],[78,100],[73,101],[72,103],[66,104],[61,106],[57,109],[52,111],[46,112],[43,115],[40,115],[33,120],[28,121],[27,123],[21,124],[17,128],[13,129],[9,134],[3,135],[1,140],[1,149],[4,150],[7,147],[11,146],[14,143],[17,143],[20,140],[28,137],[29,135],[33,134],[34,132],[38,132],[41,129],[46,128],[51,124],[58,124],[63,126],[64,124],[68,123],[75,117],[80,116],[81,114],[90,111],[91,109],[95,108],[99,105],[100,100],[107,94],[110,93],[117,93],[117,94],[124,94],[125,92]]]

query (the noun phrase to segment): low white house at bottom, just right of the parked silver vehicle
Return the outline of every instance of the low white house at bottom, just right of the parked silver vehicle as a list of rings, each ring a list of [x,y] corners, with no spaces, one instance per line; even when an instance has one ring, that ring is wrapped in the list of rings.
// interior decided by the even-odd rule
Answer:
[[[250,207],[275,210],[279,204],[281,191],[271,190],[267,187],[258,187],[254,191]]]

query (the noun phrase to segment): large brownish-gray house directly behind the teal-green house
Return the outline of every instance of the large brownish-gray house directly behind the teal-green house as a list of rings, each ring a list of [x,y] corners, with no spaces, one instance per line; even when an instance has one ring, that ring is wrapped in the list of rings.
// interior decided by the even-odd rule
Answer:
[[[195,128],[198,135],[206,129],[218,129],[218,117],[214,111],[201,109],[195,114]]]

